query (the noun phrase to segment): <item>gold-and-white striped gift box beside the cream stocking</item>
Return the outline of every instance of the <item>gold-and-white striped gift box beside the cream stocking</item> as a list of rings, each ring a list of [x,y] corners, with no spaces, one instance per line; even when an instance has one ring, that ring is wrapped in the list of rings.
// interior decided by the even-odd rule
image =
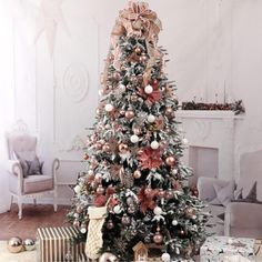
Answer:
[[[84,242],[72,244],[71,238],[77,236],[79,231],[75,228],[39,228],[38,239],[38,261],[39,262],[63,262],[83,261]],[[67,258],[71,254],[71,260]],[[80,255],[81,254],[81,255]],[[81,258],[80,258],[80,256]]]

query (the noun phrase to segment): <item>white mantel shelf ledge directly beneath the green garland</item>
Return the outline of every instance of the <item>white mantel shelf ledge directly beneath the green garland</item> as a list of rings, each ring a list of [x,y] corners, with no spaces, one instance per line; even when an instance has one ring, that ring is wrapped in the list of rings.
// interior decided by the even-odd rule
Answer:
[[[243,114],[235,115],[230,110],[178,110],[175,115],[183,119],[244,119]]]

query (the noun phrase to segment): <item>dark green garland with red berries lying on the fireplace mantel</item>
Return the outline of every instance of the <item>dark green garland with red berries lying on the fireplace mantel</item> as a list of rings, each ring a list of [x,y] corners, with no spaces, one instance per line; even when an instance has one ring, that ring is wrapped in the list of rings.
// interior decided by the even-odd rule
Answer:
[[[182,110],[229,110],[234,114],[241,114],[245,112],[242,100],[238,100],[233,103],[202,103],[202,102],[182,102]]]

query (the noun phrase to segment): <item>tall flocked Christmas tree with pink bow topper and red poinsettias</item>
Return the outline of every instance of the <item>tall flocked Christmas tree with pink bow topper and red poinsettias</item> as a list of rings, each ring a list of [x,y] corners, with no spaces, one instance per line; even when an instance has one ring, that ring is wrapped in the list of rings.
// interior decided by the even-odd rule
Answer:
[[[87,238],[93,218],[100,221],[89,226],[89,245],[97,229],[100,252],[120,261],[133,260],[140,241],[159,248],[163,261],[189,259],[206,236],[208,215],[188,187],[191,170],[181,161],[187,140],[175,120],[175,84],[164,73],[167,51],[157,46],[160,30],[144,2],[120,11],[87,140],[87,171],[77,181],[68,213],[80,239]]]

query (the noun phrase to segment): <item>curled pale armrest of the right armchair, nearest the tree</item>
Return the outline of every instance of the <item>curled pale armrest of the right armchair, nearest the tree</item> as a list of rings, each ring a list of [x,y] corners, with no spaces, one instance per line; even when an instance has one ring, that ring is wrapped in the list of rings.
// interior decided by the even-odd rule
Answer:
[[[199,199],[208,202],[213,200],[216,196],[213,187],[214,184],[224,187],[228,184],[228,181],[200,177],[198,179],[198,185],[196,185],[199,191]]]

